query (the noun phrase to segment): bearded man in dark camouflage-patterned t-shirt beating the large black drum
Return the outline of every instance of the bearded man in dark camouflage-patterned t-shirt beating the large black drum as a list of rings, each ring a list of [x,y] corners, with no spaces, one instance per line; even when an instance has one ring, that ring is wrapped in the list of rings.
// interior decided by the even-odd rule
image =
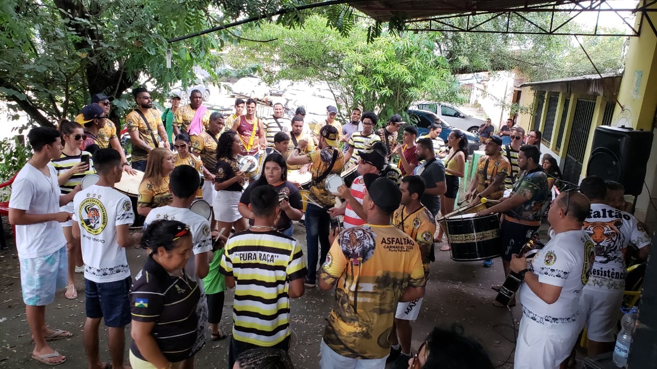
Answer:
[[[479,212],[480,215],[504,214],[500,236],[505,278],[509,275],[511,255],[520,253],[525,242],[538,230],[543,219],[543,205],[552,198],[548,196],[550,192],[547,189],[547,175],[543,172],[540,159],[541,152],[536,146],[521,146],[518,166],[522,176],[513,186],[511,196]],[[499,290],[499,287],[492,286],[493,290]],[[511,304],[515,305],[515,301],[511,301],[509,306]],[[502,306],[497,301],[493,301],[493,305]]]

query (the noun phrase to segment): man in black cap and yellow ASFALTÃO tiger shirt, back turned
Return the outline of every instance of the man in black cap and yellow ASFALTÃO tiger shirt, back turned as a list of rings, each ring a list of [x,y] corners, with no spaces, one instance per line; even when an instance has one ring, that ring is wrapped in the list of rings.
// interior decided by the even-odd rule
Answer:
[[[373,173],[364,180],[367,224],[340,232],[319,270],[319,286],[336,289],[321,369],[384,368],[397,302],[424,296],[420,248],[391,224],[401,202],[399,187]]]

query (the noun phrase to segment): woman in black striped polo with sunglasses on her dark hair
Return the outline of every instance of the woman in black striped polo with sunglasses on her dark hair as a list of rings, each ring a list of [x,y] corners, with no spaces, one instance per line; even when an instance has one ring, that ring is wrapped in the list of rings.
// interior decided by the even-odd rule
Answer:
[[[133,369],[177,369],[196,341],[198,284],[185,274],[192,234],[179,221],[155,221],[141,247],[150,252],[130,290]]]

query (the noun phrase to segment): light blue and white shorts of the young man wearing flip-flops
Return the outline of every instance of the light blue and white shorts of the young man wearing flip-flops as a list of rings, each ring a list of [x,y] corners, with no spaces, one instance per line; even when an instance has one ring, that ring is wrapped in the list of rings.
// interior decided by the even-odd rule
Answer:
[[[20,287],[23,302],[45,306],[55,301],[55,292],[66,286],[68,255],[66,245],[59,250],[30,259],[20,259]]]

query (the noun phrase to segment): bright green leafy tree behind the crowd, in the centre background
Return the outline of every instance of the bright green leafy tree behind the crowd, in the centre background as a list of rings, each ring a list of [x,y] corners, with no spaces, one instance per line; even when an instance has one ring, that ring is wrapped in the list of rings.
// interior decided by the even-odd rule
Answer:
[[[296,29],[262,24],[248,37],[275,41],[242,42],[228,62],[240,68],[258,64],[269,82],[325,82],[344,108],[375,110],[386,118],[405,113],[414,100],[459,98],[458,84],[447,60],[436,54],[432,37],[383,32],[372,39],[372,28],[380,26],[359,22],[345,34],[327,28],[330,19],[310,16]]]

